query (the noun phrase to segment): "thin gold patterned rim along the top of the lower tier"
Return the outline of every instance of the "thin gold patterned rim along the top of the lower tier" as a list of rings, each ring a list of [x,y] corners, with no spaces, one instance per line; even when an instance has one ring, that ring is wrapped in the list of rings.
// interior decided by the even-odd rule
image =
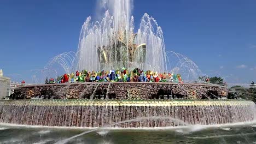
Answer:
[[[245,106],[248,100],[3,100],[1,105],[38,106]]]

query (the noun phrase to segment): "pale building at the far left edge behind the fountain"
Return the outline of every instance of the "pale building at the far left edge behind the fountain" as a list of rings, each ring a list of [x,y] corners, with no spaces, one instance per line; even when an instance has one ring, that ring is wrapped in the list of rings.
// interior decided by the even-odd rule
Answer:
[[[3,70],[0,69],[0,99],[5,99],[10,95],[10,77],[3,76]]]

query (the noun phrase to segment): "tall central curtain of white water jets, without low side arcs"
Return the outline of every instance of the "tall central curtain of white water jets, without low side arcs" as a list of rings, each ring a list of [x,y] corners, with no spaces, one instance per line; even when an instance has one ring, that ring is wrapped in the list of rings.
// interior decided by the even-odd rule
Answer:
[[[135,32],[130,0],[107,2],[101,21],[88,17],[80,33],[78,70],[141,68],[166,71],[162,29],[148,14]]]

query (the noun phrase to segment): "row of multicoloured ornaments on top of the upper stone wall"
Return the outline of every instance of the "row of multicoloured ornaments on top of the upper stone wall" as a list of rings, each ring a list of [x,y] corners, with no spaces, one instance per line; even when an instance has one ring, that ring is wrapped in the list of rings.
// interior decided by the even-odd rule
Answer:
[[[158,71],[133,69],[76,71],[75,74],[64,74],[57,83],[66,82],[176,82],[183,83],[181,75],[158,73]],[[53,78],[48,83],[55,83]]]

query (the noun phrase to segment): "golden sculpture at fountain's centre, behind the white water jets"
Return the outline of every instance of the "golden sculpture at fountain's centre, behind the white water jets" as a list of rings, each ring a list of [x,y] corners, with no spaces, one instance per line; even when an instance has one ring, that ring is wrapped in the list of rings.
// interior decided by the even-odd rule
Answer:
[[[126,38],[126,31],[113,34],[109,37],[109,45],[97,47],[98,57],[102,64],[120,61],[127,67],[127,62],[144,63],[146,59],[146,44],[135,44],[137,34],[130,34]]]

